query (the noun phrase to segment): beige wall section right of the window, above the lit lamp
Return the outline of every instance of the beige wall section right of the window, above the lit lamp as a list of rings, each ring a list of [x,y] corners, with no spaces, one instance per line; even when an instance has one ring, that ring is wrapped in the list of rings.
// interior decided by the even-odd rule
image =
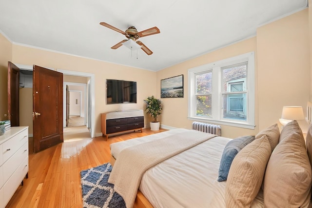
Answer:
[[[259,129],[310,100],[308,9],[257,29]],[[306,112],[305,112],[306,115]]]

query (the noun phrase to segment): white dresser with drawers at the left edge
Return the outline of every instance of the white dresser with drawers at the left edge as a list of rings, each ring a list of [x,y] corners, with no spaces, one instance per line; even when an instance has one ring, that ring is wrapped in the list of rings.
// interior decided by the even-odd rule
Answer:
[[[0,208],[28,177],[28,126],[11,127],[0,136]]]

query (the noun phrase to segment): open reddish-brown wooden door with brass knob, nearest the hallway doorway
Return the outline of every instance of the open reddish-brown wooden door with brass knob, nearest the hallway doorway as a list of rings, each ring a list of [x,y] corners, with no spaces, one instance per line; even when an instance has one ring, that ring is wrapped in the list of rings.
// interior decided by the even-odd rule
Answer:
[[[34,65],[34,151],[63,142],[63,74]]]

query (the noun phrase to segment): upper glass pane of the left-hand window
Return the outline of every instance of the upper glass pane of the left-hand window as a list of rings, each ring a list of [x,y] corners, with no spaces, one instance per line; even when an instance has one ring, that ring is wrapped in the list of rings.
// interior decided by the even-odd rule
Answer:
[[[205,95],[212,93],[212,72],[196,75],[196,94]]]

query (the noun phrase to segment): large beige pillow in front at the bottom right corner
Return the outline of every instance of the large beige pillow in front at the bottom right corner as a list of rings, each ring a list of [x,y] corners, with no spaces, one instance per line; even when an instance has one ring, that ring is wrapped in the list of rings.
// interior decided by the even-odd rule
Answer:
[[[308,207],[312,170],[302,134],[292,132],[274,149],[264,177],[265,207]]]

